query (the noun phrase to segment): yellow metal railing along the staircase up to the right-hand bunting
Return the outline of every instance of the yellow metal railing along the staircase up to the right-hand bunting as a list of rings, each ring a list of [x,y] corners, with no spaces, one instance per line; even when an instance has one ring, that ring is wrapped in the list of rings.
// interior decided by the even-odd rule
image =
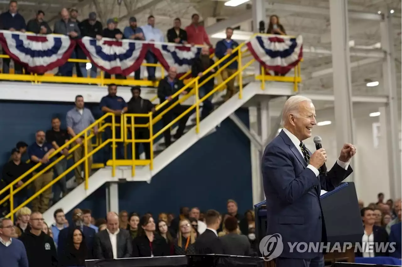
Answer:
[[[33,196],[31,196],[29,199],[27,199],[23,204],[21,204],[18,207],[14,208],[14,198],[13,198],[13,196],[17,192],[19,192],[22,188],[24,188],[25,186],[28,186],[29,184],[31,184],[41,174],[43,174],[44,172],[46,172],[47,170],[52,168],[55,164],[57,164],[57,162],[62,160],[65,156],[61,156],[61,157],[57,158],[55,161],[51,162],[51,164],[46,166],[46,168],[44,168],[40,172],[34,174],[32,178],[30,178],[26,183],[23,184],[23,186],[20,186],[20,187],[14,189],[15,184],[17,184],[19,181],[21,181],[27,175],[35,172],[35,170],[41,165],[41,163],[38,163],[33,168],[31,168],[31,170],[29,170],[27,173],[23,174],[18,179],[14,180],[14,182],[12,182],[8,186],[6,186],[2,190],[0,190],[0,195],[3,194],[6,191],[10,192],[10,194],[8,196],[6,196],[2,200],[0,200],[0,205],[3,204],[7,200],[10,201],[10,213],[7,216],[8,217],[11,216],[11,218],[13,218],[12,215],[15,214],[15,212],[19,208],[22,208],[27,203],[29,203],[31,200],[33,200],[34,198],[38,197],[46,189],[48,189],[50,186],[55,184],[58,180],[60,180],[62,177],[66,176],[66,174],[68,174],[74,168],[76,168],[76,166],[78,166],[79,164],[82,164],[84,162],[85,162],[85,188],[88,189],[88,178],[89,178],[88,177],[88,174],[89,174],[89,172],[88,172],[88,158],[90,156],[92,156],[94,153],[98,152],[101,148],[103,148],[104,146],[106,146],[109,143],[111,143],[111,146],[112,146],[113,149],[112,149],[112,158],[111,158],[111,160],[109,160],[107,162],[107,165],[112,166],[112,176],[113,177],[115,176],[115,168],[117,166],[131,166],[131,168],[132,168],[131,169],[132,170],[131,171],[132,176],[135,175],[135,166],[145,166],[145,165],[149,164],[150,170],[152,170],[153,169],[153,164],[154,164],[154,153],[153,153],[153,149],[152,149],[153,144],[156,141],[156,138],[158,138],[158,136],[160,136],[164,131],[169,131],[170,128],[175,123],[177,123],[182,117],[184,117],[185,115],[189,114],[189,112],[191,112],[191,111],[193,111],[195,109],[195,115],[196,115],[195,131],[196,131],[196,133],[199,133],[199,127],[200,127],[199,109],[200,109],[200,104],[203,101],[205,101],[208,97],[210,97],[211,95],[213,95],[214,93],[216,93],[217,91],[222,89],[229,81],[231,81],[232,79],[235,79],[236,77],[238,78],[238,90],[239,90],[238,97],[239,97],[239,99],[242,99],[242,95],[243,95],[243,78],[245,77],[245,75],[243,75],[243,71],[247,67],[249,67],[252,63],[256,62],[255,59],[250,55],[250,53],[248,53],[248,49],[244,45],[244,43],[242,43],[238,47],[236,47],[233,50],[232,54],[230,54],[230,55],[228,54],[228,55],[224,56],[222,59],[219,59],[218,61],[216,61],[211,67],[209,67],[207,70],[205,70],[203,72],[203,75],[206,75],[212,69],[215,69],[219,65],[222,65],[222,63],[224,63],[224,61],[226,61],[226,59],[228,59],[229,57],[232,57],[232,59],[230,59],[230,61],[228,61],[226,64],[224,64],[224,66],[222,66],[219,69],[217,69],[217,71],[215,71],[215,73],[210,75],[204,81],[200,82],[199,81],[200,77],[196,77],[196,78],[192,79],[191,81],[189,81],[189,83],[187,83],[183,88],[181,88],[176,93],[174,93],[171,96],[172,99],[175,99],[176,97],[178,97],[185,90],[189,91],[189,93],[187,93],[183,97],[179,98],[176,102],[171,103],[169,106],[166,106],[168,104],[168,102],[169,102],[168,100],[160,103],[160,105],[158,105],[156,107],[156,111],[159,111],[158,115],[154,115],[154,113],[152,113],[152,112],[150,112],[148,114],[124,114],[124,115],[121,115],[121,123],[118,124],[118,123],[115,122],[115,115],[113,115],[113,113],[107,113],[103,117],[101,117],[100,119],[96,120],[87,129],[82,131],[76,137],[72,138],[64,146],[61,146],[58,150],[53,152],[51,157],[54,157],[57,153],[61,152],[64,148],[68,148],[70,146],[70,144],[72,144],[73,142],[75,142],[77,140],[78,136],[82,136],[84,138],[83,144],[86,144],[86,142],[90,141],[90,139],[94,136],[94,134],[88,134],[88,132],[90,130],[94,129],[95,127],[98,127],[98,135],[97,135],[96,144],[95,144],[96,148],[94,148],[94,150],[92,150],[92,152],[89,152],[89,153],[85,148],[84,149],[84,157],[81,160],[76,162],[74,165],[72,165],[70,168],[68,168],[64,173],[59,175],[57,178],[55,178],[52,182],[47,184],[41,190],[39,190],[38,192],[35,192],[35,194]],[[222,83],[217,85],[207,95],[205,95],[204,97],[202,97],[200,99],[199,98],[199,88],[201,86],[203,86],[205,83],[207,83],[209,80],[214,79],[215,77],[217,77],[217,75],[220,75],[220,73],[222,73],[222,71],[224,71],[234,61],[238,62],[237,71],[235,73],[233,73],[232,75],[230,75],[230,77],[228,77]],[[265,89],[265,81],[280,81],[280,82],[293,83],[293,89],[294,89],[294,91],[297,91],[298,84],[301,82],[300,65],[298,64],[294,69],[295,69],[294,70],[294,75],[292,77],[282,77],[282,76],[277,77],[277,76],[267,75],[266,72],[265,72],[265,69],[262,69],[260,75],[256,75],[254,78],[256,80],[262,81],[261,89],[263,89],[263,90]],[[158,121],[160,121],[162,119],[164,114],[166,114],[168,111],[170,111],[176,105],[186,101],[192,95],[195,95],[195,103],[193,105],[188,107],[186,111],[184,111],[182,114],[178,115],[178,117],[173,119],[170,123],[165,125],[159,131],[157,131],[157,132],[154,131],[154,125],[156,123],[158,123]],[[135,124],[135,117],[146,117],[146,118],[148,118],[148,123],[146,123],[146,124]],[[109,123],[103,123],[103,121],[105,119],[107,119],[107,118],[111,118],[110,119],[111,123],[110,122]],[[129,121],[131,121],[131,122],[127,123],[127,119]],[[102,140],[101,136],[100,136],[100,133],[102,131],[105,131],[106,127],[111,127],[112,138],[109,139],[109,140]],[[120,136],[119,139],[116,138],[116,129],[117,129],[116,127],[120,127],[121,136]],[[135,127],[147,127],[149,129],[149,131],[150,131],[150,138],[146,139],[146,140],[137,140],[137,139],[135,139]],[[129,129],[130,129],[131,134],[128,134]],[[123,142],[125,145],[126,144],[131,144],[131,153],[132,153],[132,157],[133,157],[132,159],[127,159],[127,156],[126,156],[125,160],[117,160],[116,159],[115,148],[116,148],[116,143],[118,143],[118,142]],[[151,148],[150,149],[150,160],[136,160],[135,159],[135,143],[144,143],[144,144],[149,143],[150,148]],[[146,144],[146,145],[148,146],[148,144]],[[78,145],[78,144],[73,146],[68,151],[69,154],[74,152],[74,150],[76,150],[79,146],[80,145]],[[127,147],[126,147],[126,149],[127,149]],[[127,152],[125,152],[125,155],[127,155]]]

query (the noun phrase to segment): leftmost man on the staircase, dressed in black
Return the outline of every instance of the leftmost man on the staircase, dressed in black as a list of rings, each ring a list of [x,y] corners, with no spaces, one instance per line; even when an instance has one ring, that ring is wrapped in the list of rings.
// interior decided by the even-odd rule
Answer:
[[[11,161],[7,162],[3,166],[2,179],[6,183],[6,185],[11,184],[18,177],[23,175],[25,172],[29,171],[29,164],[21,161],[21,153],[17,148],[13,148],[11,150]],[[14,190],[20,186],[22,186],[25,182],[27,182],[31,178],[31,174],[25,176],[21,181],[19,181],[15,186]],[[27,198],[31,197],[31,193],[28,192],[28,187],[25,186],[21,191],[17,192],[14,195],[14,208],[23,204]]]

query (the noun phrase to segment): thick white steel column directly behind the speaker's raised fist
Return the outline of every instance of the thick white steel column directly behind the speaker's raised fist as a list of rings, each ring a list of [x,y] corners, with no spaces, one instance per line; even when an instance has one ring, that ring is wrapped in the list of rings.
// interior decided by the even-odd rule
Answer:
[[[347,8],[347,0],[330,0],[336,146],[339,150],[345,143],[354,143]],[[347,180],[353,181],[353,176]]]

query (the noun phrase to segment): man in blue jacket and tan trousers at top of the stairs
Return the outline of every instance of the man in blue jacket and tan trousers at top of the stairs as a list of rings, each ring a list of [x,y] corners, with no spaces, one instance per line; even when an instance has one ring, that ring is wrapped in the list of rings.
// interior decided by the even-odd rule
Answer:
[[[220,40],[219,42],[216,43],[216,48],[215,48],[215,56],[218,59],[222,59],[222,57],[232,54],[233,49],[239,46],[239,43],[236,42],[235,40],[232,40],[232,35],[233,35],[233,29],[228,27],[226,28],[226,38],[223,40]],[[223,67],[226,63],[234,59],[238,53],[234,53],[230,57],[228,57],[226,60],[224,60],[221,64],[219,64],[219,67]],[[231,75],[233,75],[238,69],[238,64],[237,64],[237,59],[230,63],[228,67],[226,67],[222,71],[222,79],[225,81],[228,79]],[[225,101],[228,100],[230,97],[232,97],[236,93],[236,89],[234,88],[234,81],[235,78],[231,79],[226,83],[226,96],[225,96]]]

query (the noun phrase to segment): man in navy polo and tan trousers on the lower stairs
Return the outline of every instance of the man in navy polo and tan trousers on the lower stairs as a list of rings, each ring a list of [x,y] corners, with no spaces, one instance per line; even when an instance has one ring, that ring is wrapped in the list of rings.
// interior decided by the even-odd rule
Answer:
[[[46,168],[49,164],[49,156],[55,151],[53,146],[45,142],[45,132],[36,132],[36,141],[28,148],[28,155],[34,164],[41,163],[41,165],[32,173],[35,176],[38,172]],[[53,180],[53,169],[45,171],[42,175],[33,181],[33,188],[35,193],[45,187]],[[45,212],[49,208],[49,200],[51,196],[51,186],[47,188],[40,196],[32,200],[32,211]]]

